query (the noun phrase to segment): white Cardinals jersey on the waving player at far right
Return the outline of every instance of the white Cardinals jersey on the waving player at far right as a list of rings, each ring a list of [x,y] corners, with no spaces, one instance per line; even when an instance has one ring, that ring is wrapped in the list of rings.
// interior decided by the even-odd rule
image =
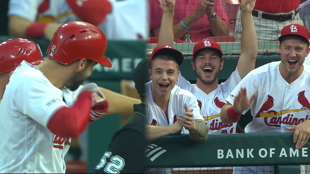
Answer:
[[[310,66],[303,65],[301,76],[288,84],[280,74],[280,63],[271,62],[254,69],[226,98],[233,104],[241,87],[246,87],[248,98],[257,93],[250,107],[253,120],[246,126],[245,133],[285,133],[289,132],[286,126],[295,126],[310,118]],[[273,167],[236,167],[236,170],[236,173],[249,170],[256,173],[257,170],[257,174],[265,174],[262,171],[273,171]]]

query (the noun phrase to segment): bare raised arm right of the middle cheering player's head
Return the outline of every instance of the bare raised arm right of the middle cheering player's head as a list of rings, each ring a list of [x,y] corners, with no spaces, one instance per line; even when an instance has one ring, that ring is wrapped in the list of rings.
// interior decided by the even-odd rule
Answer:
[[[237,70],[241,79],[255,68],[258,52],[256,30],[252,10],[256,0],[241,0],[241,55]]]

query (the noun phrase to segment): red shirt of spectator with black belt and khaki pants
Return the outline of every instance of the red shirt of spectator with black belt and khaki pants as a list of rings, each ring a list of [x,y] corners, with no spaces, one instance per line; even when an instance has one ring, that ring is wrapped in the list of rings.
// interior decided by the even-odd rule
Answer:
[[[257,0],[254,9],[276,14],[293,11],[298,8],[298,6],[299,0]]]

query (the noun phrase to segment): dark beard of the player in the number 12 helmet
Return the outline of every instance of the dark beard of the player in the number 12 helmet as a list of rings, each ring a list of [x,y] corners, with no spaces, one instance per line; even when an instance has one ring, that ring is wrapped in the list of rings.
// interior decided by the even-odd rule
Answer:
[[[70,91],[75,91],[83,84],[86,78],[85,70],[76,72],[64,83],[64,86]]]

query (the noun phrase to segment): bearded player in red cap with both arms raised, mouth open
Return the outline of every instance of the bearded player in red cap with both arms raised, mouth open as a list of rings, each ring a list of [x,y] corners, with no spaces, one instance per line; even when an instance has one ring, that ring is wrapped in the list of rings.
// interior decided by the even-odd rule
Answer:
[[[172,1],[173,2],[173,1]],[[168,2],[166,2],[168,4]],[[221,108],[225,104],[225,99],[237,86],[241,79],[255,68],[255,61],[258,52],[256,31],[251,11],[255,6],[255,1],[241,1],[241,21],[244,30],[241,40],[241,55],[237,64],[236,71],[224,83],[218,85],[219,72],[223,68],[223,53],[218,43],[211,40],[203,40],[195,44],[193,49],[192,66],[196,72],[197,84],[190,84],[181,74],[176,85],[182,89],[192,92],[198,101],[201,115],[205,123],[209,126],[210,134],[235,133],[236,125],[223,123],[220,119]],[[173,10],[173,5],[164,8],[163,20],[166,24],[165,30],[159,33],[158,45],[171,44],[173,42],[173,14],[166,15],[168,7]],[[169,21],[170,19],[170,21]],[[208,167],[208,168],[188,168],[188,170],[226,170],[228,167]],[[231,167],[232,169],[232,167]],[[184,168],[179,168],[184,170]]]

